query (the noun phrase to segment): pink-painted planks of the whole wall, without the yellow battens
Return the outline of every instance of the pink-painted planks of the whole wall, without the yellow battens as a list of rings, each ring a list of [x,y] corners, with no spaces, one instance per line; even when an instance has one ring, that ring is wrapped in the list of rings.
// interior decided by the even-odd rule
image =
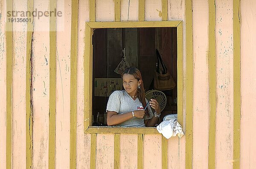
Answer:
[[[70,167],[70,50],[71,2],[57,1],[63,17],[56,22],[56,132],[55,168]],[[168,20],[183,21],[183,60],[186,60],[185,0],[168,0]],[[139,0],[130,0],[129,20],[138,20]],[[160,21],[161,0],[145,0],[145,20]],[[233,0],[215,0],[216,137],[215,167],[233,167]],[[14,0],[13,8],[26,11],[27,0]],[[48,0],[34,0],[46,11]],[[256,1],[243,0],[241,14],[241,169],[256,166]],[[193,140],[192,167],[208,168],[209,70],[208,0],[192,0],[193,33]],[[96,0],[96,21],[114,21],[114,1]],[[121,0],[121,20],[128,18],[128,0]],[[79,0],[77,55],[76,167],[90,168],[90,134],[84,134],[84,26],[89,21],[89,0]],[[26,25],[13,24],[12,166],[26,168]],[[0,0],[0,169],[6,168],[6,0]],[[32,42],[33,168],[49,164],[49,20],[34,18]],[[186,63],[184,62],[184,75]],[[184,81],[186,77],[184,76]],[[184,99],[186,91],[184,90]],[[183,102],[185,124],[185,101]],[[185,129],[186,126],[183,126]],[[144,136],[145,169],[160,169],[161,136]],[[98,134],[96,169],[113,168],[114,136]],[[185,136],[168,140],[168,168],[185,168]],[[120,135],[120,168],[137,168],[137,135]]]

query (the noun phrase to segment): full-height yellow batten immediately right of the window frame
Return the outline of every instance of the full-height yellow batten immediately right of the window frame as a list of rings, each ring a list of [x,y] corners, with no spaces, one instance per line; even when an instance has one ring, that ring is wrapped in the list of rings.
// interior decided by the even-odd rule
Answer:
[[[192,168],[193,140],[193,31],[192,0],[186,0],[186,169]]]

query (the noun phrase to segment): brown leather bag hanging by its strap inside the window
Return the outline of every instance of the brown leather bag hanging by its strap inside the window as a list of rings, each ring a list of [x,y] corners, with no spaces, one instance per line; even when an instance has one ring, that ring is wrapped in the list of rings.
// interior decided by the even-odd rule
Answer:
[[[171,90],[175,87],[175,81],[167,70],[166,65],[164,65],[158,50],[156,50],[156,54],[157,62],[154,74],[154,89],[160,91]]]

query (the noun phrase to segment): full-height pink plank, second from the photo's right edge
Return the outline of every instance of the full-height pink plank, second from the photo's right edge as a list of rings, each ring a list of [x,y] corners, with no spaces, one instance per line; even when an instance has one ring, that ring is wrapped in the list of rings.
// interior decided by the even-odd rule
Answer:
[[[233,167],[233,1],[215,0],[215,11],[215,167],[227,169]]]

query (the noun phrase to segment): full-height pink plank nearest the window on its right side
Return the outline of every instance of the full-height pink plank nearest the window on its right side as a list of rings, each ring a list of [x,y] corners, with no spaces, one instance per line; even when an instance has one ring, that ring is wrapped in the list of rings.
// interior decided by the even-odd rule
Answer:
[[[207,169],[209,144],[208,0],[192,1],[192,15],[194,64],[192,168]]]

